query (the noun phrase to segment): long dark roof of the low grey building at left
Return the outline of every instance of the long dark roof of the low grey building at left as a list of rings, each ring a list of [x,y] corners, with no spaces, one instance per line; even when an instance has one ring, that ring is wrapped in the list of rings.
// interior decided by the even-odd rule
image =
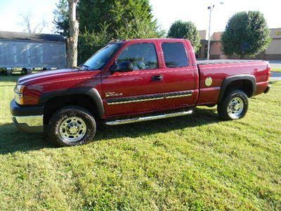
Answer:
[[[0,31],[0,39],[29,40],[29,41],[65,41],[60,34],[31,34],[26,32]]]

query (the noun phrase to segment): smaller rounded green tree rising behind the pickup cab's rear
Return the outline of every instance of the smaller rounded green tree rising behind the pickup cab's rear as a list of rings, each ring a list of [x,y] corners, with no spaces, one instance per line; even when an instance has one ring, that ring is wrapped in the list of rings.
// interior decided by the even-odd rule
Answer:
[[[184,22],[177,20],[174,22],[169,29],[168,37],[188,39],[195,51],[201,46],[200,35],[197,32],[195,24],[191,21]]]

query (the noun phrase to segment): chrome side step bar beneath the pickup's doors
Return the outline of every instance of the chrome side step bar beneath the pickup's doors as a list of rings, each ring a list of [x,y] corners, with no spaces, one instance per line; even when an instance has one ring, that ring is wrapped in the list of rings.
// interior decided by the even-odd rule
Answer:
[[[179,117],[184,115],[190,115],[192,114],[192,110],[185,110],[180,111],[176,113],[165,113],[165,114],[159,114],[159,115],[151,115],[151,116],[145,116],[145,117],[133,117],[129,119],[123,119],[123,120],[112,120],[109,122],[105,122],[106,125],[117,125],[117,124],[127,124],[127,123],[133,123],[133,122],[143,122],[148,120],[159,120],[159,119],[165,119],[169,117]]]

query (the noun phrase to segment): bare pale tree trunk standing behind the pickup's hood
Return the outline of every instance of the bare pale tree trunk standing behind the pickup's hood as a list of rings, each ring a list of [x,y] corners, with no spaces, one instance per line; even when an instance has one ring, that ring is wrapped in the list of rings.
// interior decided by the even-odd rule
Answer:
[[[70,19],[70,37],[67,39],[67,67],[77,66],[77,43],[79,23],[76,20],[76,6],[79,0],[68,1],[68,17]]]

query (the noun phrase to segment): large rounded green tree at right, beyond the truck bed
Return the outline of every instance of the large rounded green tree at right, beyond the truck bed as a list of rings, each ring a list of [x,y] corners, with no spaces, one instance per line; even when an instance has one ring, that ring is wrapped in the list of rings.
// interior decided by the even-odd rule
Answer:
[[[259,11],[240,12],[233,15],[221,35],[222,50],[226,55],[255,56],[270,44],[270,30]]]

